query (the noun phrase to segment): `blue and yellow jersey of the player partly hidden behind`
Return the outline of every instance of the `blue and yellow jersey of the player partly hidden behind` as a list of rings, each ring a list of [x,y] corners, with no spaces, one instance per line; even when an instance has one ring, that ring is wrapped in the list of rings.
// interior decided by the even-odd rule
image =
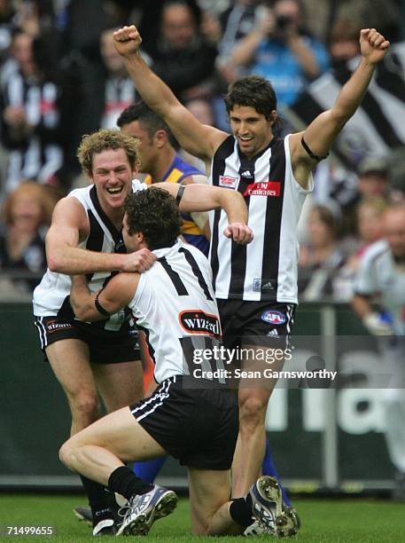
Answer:
[[[201,175],[204,175],[202,171],[191,166],[188,162],[183,161],[182,157],[179,154],[176,154],[175,160],[170,164],[159,181],[165,181],[166,183],[182,183],[185,177]],[[146,176],[144,183],[152,185],[152,177],[150,175]],[[208,256],[209,241],[206,239],[206,236],[199,230],[199,227],[194,223],[189,213],[182,213],[181,216],[183,219],[182,235],[184,240],[191,243],[191,245],[194,245],[194,247],[199,248],[204,255]]]

